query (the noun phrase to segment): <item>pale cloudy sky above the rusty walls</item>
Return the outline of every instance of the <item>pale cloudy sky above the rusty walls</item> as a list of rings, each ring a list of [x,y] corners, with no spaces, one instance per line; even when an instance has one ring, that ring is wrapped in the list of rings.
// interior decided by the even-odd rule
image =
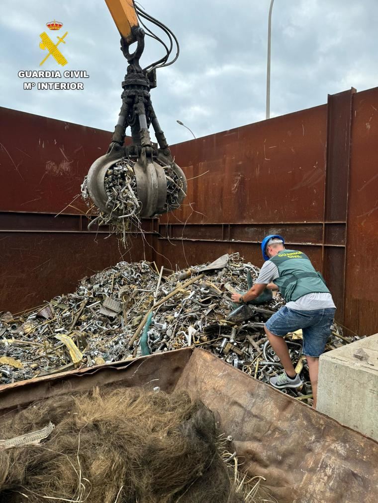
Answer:
[[[270,0],[140,0],[169,26],[180,57],[158,70],[152,101],[171,144],[265,118]],[[25,91],[19,70],[38,70],[45,23],[64,23],[61,52],[43,69],[86,70],[84,91]],[[333,94],[378,85],[376,0],[275,0],[271,116],[320,105]],[[48,31],[48,30],[47,30]],[[55,32],[49,32],[55,39]],[[0,106],[113,131],[127,67],[104,0],[1,0]],[[142,62],[159,47],[146,39]],[[67,80],[67,79],[61,79]]]

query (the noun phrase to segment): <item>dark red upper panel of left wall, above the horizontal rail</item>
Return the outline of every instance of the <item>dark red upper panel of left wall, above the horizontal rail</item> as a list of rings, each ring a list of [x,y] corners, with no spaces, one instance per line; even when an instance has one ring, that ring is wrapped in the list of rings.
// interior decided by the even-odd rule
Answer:
[[[0,211],[86,211],[76,196],[111,133],[2,107],[0,117]]]

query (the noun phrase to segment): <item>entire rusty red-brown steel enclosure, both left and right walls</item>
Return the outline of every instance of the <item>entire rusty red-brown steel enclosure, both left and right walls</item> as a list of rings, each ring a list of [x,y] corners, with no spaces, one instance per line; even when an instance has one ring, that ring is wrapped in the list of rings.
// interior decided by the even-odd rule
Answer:
[[[338,320],[376,332],[377,110],[377,88],[351,89],[326,105],[174,145],[188,179],[185,206],[145,222],[147,244],[134,240],[125,259],[173,269],[240,251],[261,266],[259,242],[281,233],[324,273]],[[110,133],[9,109],[0,117],[0,309],[20,310],[72,290],[124,250],[106,229],[96,243],[79,199],[66,208]]]

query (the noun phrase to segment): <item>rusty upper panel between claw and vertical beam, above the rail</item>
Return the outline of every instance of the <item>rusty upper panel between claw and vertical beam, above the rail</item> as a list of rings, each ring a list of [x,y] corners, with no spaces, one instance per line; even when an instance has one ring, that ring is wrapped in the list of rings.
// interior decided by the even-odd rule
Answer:
[[[326,135],[322,105],[174,145],[189,180],[185,203],[194,203],[177,217],[191,223],[322,221]],[[169,215],[166,221],[177,222]]]

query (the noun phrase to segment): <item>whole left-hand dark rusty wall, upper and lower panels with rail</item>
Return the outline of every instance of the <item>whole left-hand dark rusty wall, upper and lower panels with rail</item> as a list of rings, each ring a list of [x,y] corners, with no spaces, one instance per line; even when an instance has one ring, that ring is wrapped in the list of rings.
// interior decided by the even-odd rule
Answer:
[[[0,310],[69,293],[120,260],[152,260],[150,234],[149,244],[138,237],[125,250],[106,228],[88,232],[81,215],[80,185],[110,139],[108,131],[0,108]]]

